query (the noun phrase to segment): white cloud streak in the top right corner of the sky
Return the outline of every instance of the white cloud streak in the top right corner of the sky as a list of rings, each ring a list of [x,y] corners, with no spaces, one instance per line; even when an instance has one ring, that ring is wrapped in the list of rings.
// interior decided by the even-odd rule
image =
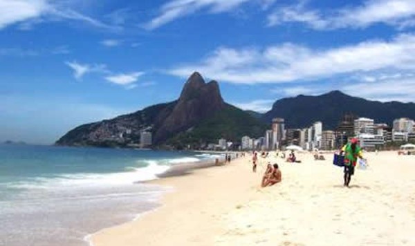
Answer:
[[[360,6],[322,13],[304,8],[304,3],[275,10],[268,15],[268,26],[287,22],[305,23],[316,30],[366,28],[385,23],[397,28],[415,26],[414,0],[367,0]]]

